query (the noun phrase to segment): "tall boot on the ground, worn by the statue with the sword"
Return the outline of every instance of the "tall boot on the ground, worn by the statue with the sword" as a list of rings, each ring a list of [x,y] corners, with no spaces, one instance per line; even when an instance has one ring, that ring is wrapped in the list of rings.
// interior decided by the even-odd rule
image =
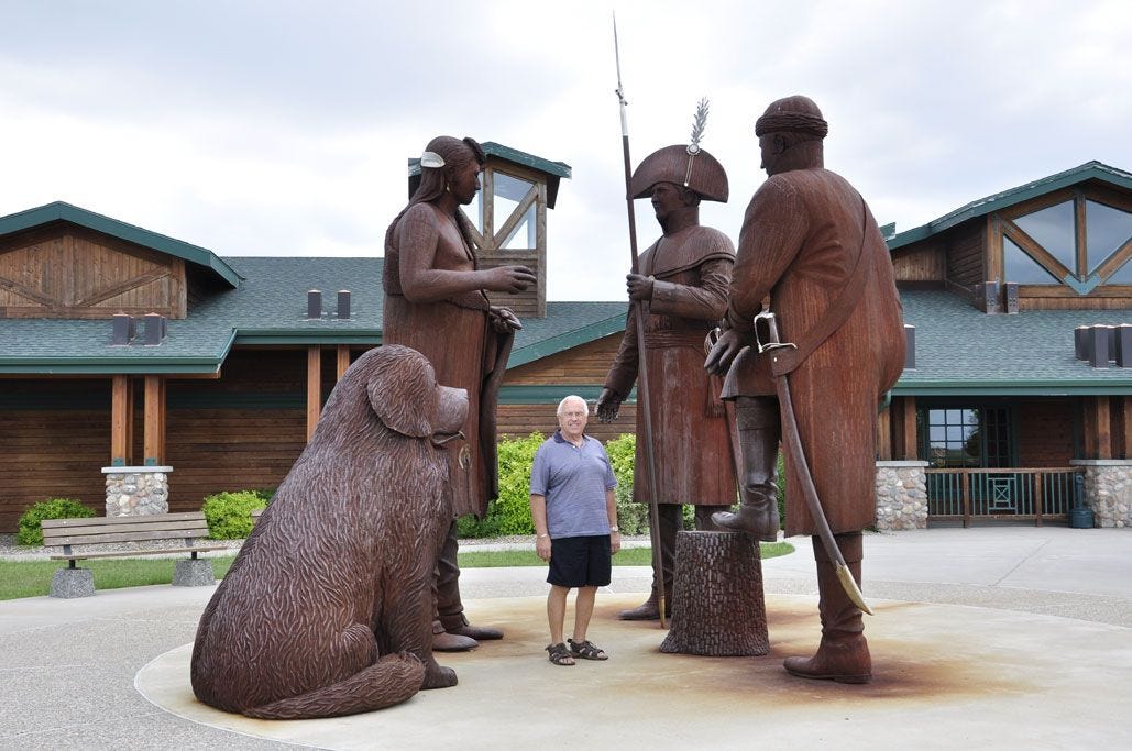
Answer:
[[[860,586],[860,561],[864,553],[860,533],[835,535],[846,566]],[[787,657],[787,672],[799,677],[868,683],[873,680],[873,658],[865,640],[861,612],[846,594],[838,579],[837,564],[816,536],[814,559],[817,561],[817,611],[822,618],[822,641],[813,657]]]

